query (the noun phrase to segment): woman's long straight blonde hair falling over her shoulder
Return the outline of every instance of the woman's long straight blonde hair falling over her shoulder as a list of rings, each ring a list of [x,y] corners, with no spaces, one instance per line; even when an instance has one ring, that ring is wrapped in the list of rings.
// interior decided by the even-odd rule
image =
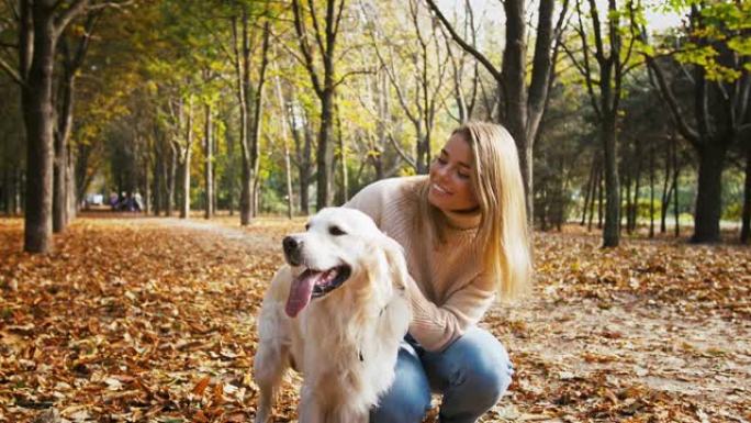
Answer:
[[[455,134],[472,152],[470,180],[481,213],[475,245],[484,271],[496,280],[501,300],[516,298],[528,291],[533,274],[516,144],[505,127],[487,122],[467,122]]]

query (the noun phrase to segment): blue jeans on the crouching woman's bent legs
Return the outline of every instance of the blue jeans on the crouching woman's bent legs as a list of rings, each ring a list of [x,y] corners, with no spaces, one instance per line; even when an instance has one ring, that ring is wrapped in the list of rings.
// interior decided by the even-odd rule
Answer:
[[[399,350],[396,378],[370,412],[370,423],[419,423],[430,392],[444,396],[441,423],[474,422],[497,403],[514,368],[506,349],[487,331],[470,327],[442,352],[423,349],[407,335]]]

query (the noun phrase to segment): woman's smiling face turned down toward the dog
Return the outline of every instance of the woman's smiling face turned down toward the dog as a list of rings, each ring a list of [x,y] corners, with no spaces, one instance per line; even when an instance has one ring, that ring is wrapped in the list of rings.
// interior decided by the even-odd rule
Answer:
[[[472,151],[464,137],[456,133],[430,165],[428,201],[441,211],[468,211],[478,207],[470,180]]]

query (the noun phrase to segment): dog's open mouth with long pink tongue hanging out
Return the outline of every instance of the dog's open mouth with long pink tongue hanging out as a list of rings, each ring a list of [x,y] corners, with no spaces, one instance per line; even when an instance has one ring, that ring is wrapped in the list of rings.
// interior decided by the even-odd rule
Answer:
[[[347,265],[328,270],[305,269],[292,281],[284,311],[290,318],[296,316],[311,299],[324,297],[339,288],[350,274],[351,268]]]

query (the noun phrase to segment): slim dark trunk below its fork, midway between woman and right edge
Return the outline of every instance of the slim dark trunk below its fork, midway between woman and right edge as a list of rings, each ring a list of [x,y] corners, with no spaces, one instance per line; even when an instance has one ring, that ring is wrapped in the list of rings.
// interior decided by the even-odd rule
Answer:
[[[616,164],[615,120],[615,113],[605,116],[601,133],[605,148],[605,196],[607,197],[605,229],[603,230],[604,247],[617,247],[619,243],[620,201],[618,196],[618,167]]]

